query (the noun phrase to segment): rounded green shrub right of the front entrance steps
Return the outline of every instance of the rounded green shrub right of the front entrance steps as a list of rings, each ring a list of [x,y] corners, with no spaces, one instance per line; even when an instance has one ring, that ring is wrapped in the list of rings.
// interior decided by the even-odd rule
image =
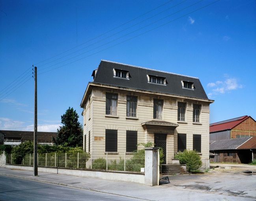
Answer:
[[[202,166],[202,161],[196,150],[184,150],[174,155],[175,159],[179,159],[179,163],[187,164],[188,171],[198,170]]]

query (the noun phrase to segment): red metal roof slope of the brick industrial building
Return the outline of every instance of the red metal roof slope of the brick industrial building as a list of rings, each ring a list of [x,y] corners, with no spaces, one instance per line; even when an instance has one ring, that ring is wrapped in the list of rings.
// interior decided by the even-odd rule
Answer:
[[[249,117],[250,116],[245,115],[243,117],[237,117],[237,118],[234,118],[234,119],[228,119],[228,120],[225,120],[225,121],[220,121],[220,122],[210,124],[210,133],[220,131],[220,130],[232,129],[235,126],[237,126],[238,124],[240,124],[241,122],[248,119]]]

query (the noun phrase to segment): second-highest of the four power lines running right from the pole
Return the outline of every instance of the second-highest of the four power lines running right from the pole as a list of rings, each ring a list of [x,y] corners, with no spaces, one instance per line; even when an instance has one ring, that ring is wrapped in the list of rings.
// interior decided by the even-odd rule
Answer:
[[[90,45],[88,45],[88,46],[85,46],[84,48],[78,49],[78,50],[73,51],[72,53],[67,54],[67,55],[65,55],[65,56],[63,56],[63,57],[60,57],[60,58],[57,58],[57,59],[55,59],[55,60],[53,60],[53,61],[47,62],[47,63],[41,65],[40,67],[45,66],[45,65],[47,65],[47,64],[50,64],[50,63],[52,63],[52,62],[55,62],[55,61],[57,61],[57,60],[60,60],[60,59],[62,59],[62,58],[65,58],[65,57],[67,57],[67,56],[69,56],[69,55],[72,55],[72,54],[74,54],[74,53],[77,53],[78,51],[81,51],[81,50],[83,50],[83,49],[85,49],[85,48],[88,48],[88,47],[90,47],[90,46],[93,46],[93,45],[95,45],[95,44],[97,44],[97,43],[99,43],[99,42],[101,42],[101,41],[103,41],[103,40],[106,40],[106,39],[108,39],[108,38],[111,38],[111,37],[113,37],[114,35],[117,35],[118,33],[121,33],[121,32],[123,32],[123,31],[125,31],[125,30],[127,30],[127,29],[130,29],[131,27],[134,27],[134,26],[136,26],[136,25],[138,25],[138,24],[141,24],[142,22],[145,22],[146,20],[149,20],[149,19],[151,19],[151,18],[153,18],[153,17],[155,17],[155,16],[157,16],[157,15],[160,15],[161,13],[164,13],[165,11],[168,11],[169,9],[171,9],[171,8],[173,8],[173,7],[176,7],[176,6],[179,5],[179,4],[183,4],[183,3],[186,2],[186,1],[187,1],[187,0],[184,0],[183,2],[180,2],[180,3],[176,4],[176,5],[171,6],[171,7],[168,7],[168,8],[165,9],[164,11],[161,11],[161,12],[159,12],[159,13],[157,13],[157,14],[155,14],[155,15],[149,17],[149,18],[146,18],[146,19],[144,19],[144,20],[142,20],[142,21],[140,21],[140,22],[138,22],[138,23],[136,23],[136,24],[133,24],[132,26],[129,26],[129,27],[125,28],[125,29],[122,29],[121,31],[118,31],[117,33],[114,33],[114,34],[112,34],[112,35],[110,35],[110,36],[108,36],[108,37],[106,37],[106,38],[103,38],[103,39],[101,39],[101,40],[98,40],[97,42],[95,42],[95,43],[93,43],[93,44],[90,44]],[[78,56],[79,56],[79,55],[78,55]],[[77,57],[77,56],[76,56],[76,57]],[[54,65],[56,65],[56,64],[54,64]],[[49,68],[49,67],[47,67],[47,68]],[[44,69],[45,69],[45,68],[44,68]]]

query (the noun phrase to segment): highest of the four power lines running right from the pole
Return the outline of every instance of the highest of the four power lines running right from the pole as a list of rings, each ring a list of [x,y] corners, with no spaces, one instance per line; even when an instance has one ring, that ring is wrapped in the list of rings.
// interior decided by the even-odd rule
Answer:
[[[96,38],[99,38],[99,37],[101,37],[101,36],[103,36],[103,35],[105,35],[105,34],[111,32],[111,31],[114,31],[115,29],[118,29],[119,27],[121,27],[121,26],[123,26],[123,25],[125,25],[125,24],[128,24],[129,22],[132,22],[132,21],[134,21],[134,20],[136,20],[136,19],[138,19],[138,18],[140,18],[141,16],[144,16],[144,15],[150,13],[151,11],[154,11],[155,9],[158,9],[159,7],[162,7],[163,5],[166,5],[166,4],[170,3],[171,1],[173,1],[173,0],[169,0],[168,2],[165,2],[164,4],[161,4],[161,5],[159,5],[158,7],[155,7],[155,8],[153,8],[153,9],[147,11],[146,13],[143,13],[142,15],[137,16],[136,18],[133,18],[132,20],[129,20],[129,21],[127,21],[127,22],[121,24],[120,26],[117,26],[117,27],[115,27],[115,28],[113,28],[113,29],[111,29],[111,30],[109,30],[109,31],[107,31],[107,32],[105,32],[105,33],[102,33],[102,34],[100,34],[100,35],[98,35],[98,36],[96,36],[96,37],[94,37],[94,38],[92,38],[92,39],[90,39],[90,40],[87,40],[86,42],[84,42],[84,43],[82,43],[82,44],[80,44],[80,45],[78,45],[78,46],[75,46],[74,48],[68,49],[68,50],[66,50],[66,51],[64,51],[64,52],[62,52],[62,53],[60,53],[60,54],[58,54],[58,55],[55,55],[55,56],[50,57],[50,58],[47,58],[47,59],[45,59],[45,60],[43,60],[43,61],[41,61],[41,62],[38,62],[38,63],[36,63],[36,65],[37,65],[37,64],[40,64],[40,63],[42,63],[42,62],[45,62],[45,61],[47,61],[47,60],[50,60],[51,58],[58,57],[59,55],[62,55],[62,54],[66,53],[66,52],[68,52],[68,51],[70,51],[70,50],[72,50],[72,49],[75,49],[75,48],[77,48],[77,47],[80,47],[80,46],[82,46],[82,45],[84,45],[84,44],[86,44],[86,43],[88,43],[88,42],[90,42],[90,41],[92,41],[92,40],[94,40],[94,39],[96,39]]]

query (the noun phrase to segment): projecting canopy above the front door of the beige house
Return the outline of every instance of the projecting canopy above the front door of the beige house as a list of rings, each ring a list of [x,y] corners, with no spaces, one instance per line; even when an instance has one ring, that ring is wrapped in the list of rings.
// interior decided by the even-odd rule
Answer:
[[[168,121],[152,120],[141,124],[144,130],[170,130],[174,131],[179,124],[175,124]]]

